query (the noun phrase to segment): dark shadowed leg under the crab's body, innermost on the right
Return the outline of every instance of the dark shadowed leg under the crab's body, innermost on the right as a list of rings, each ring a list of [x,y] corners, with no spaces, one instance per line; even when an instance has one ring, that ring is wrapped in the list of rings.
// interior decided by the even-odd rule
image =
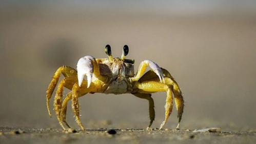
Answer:
[[[147,127],[147,130],[150,129],[154,118],[155,118],[155,112],[154,112],[154,100],[151,97],[151,94],[145,94],[145,93],[132,93],[133,95],[135,95],[136,97],[140,97],[140,98],[144,98],[147,99],[149,102],[149,118],[150,118],[150,122],[149,125]]]

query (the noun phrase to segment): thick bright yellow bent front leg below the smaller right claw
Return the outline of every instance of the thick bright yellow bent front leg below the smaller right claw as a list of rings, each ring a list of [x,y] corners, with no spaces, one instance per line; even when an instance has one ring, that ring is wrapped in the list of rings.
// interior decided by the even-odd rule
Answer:
[[[172,112],[172,91],[171,88],[163,83],[158,81],[144,81],[142,83],[137,84],[137,88],[140,89],[138,92],[140,93],[148,93],[148,92],[167,92],[166,105],[165,105],[165,120],[162,122],[160,129],[166,124],[171,112]]]

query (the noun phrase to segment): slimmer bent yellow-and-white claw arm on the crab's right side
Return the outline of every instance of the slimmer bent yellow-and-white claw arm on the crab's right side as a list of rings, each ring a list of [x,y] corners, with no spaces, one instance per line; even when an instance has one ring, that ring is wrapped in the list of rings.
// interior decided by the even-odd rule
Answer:
[[[153,61],[150,61],[150,60],[144,60],[141,62],[139,69],[137,71],[137,74],[134,77],[131,77],[131,80],[138,81],[143,76],[148,66],[159,77],[161,83],[162,82],[165,83],[162,69],[157,64],[155,64]]]

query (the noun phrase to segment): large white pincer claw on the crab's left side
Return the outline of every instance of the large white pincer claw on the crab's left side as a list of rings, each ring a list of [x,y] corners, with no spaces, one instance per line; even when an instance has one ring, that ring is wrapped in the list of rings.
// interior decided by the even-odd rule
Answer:
[[[95,58],[92,56],[85,56],[78,60],[77,62],[77,77],[78,77],[78,86],[81,87],[83,83],[84,76],[87,77],[87,88],[90,87],[93,74],[93,63]]]

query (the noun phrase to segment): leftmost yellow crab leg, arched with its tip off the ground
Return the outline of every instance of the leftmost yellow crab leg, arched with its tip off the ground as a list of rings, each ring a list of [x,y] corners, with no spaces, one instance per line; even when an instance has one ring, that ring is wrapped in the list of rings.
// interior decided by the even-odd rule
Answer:
[[[62,66],[56,70],[46,91],[46,105],[47,105],[47,110],[50,117],[51,117],[51,112],[49,107],[50,98],[58,83],[58,79],[60,78],[61,74],[63,74],[65,77],[67,76],[77,77],[77,71],[71,67]]]

